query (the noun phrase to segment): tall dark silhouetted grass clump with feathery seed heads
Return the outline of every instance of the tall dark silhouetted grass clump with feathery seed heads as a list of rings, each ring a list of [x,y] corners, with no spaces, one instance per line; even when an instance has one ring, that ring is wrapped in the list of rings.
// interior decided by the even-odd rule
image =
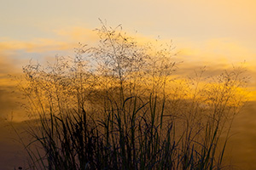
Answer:
[[[223,168],[241,69],[175,80],[172,46],[138,45],[120,28],[102,24],[99,45],[80,44],[74,59],[23,68],[27,169]]]

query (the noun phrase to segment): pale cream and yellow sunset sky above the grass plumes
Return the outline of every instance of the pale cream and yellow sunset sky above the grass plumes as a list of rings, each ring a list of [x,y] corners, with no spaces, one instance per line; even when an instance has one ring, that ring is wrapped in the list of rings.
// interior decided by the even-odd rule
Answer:
[[[14,87],[9,74],[30,59],[73,55],[78,42],[96,42],[98,19],[144,41],[172,40],[183,69],[222,71],[245,61],[256,100],[255,16],[254,0],[0,0],[0,116],[17,107],[6,97]]]

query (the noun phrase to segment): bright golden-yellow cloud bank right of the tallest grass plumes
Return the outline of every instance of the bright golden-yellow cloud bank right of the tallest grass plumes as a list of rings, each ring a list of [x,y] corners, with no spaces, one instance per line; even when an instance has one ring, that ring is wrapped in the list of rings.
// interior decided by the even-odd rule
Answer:
[[[201,42],[197,46],[189,42],[184,42],[184,44],[178,45],[184,61],[203,65],[220,64],[223,69],[230,67],[230,65],[240,65],[245,62],[245,66],[251,71],[254,71],[256,66],[256,51],[245,48],[232,40],[212,39]]]

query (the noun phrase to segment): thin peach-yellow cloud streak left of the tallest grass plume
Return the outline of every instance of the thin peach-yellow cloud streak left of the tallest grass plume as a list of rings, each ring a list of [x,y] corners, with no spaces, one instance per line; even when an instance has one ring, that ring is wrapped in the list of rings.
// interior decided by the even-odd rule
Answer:
[[[22,50],[26,53],[68,51],[77,47],[78,42],[93,45],[99,40],[97,31],[83,27],[67,27],[65,29],[55,30],[54,33],[55,37],[53,38],[37,37],[29,41],[0,38],[0,53],[10,54],[17,50]],[[152,38],[136,34],[136,40],[142,43],[149,42]]]

